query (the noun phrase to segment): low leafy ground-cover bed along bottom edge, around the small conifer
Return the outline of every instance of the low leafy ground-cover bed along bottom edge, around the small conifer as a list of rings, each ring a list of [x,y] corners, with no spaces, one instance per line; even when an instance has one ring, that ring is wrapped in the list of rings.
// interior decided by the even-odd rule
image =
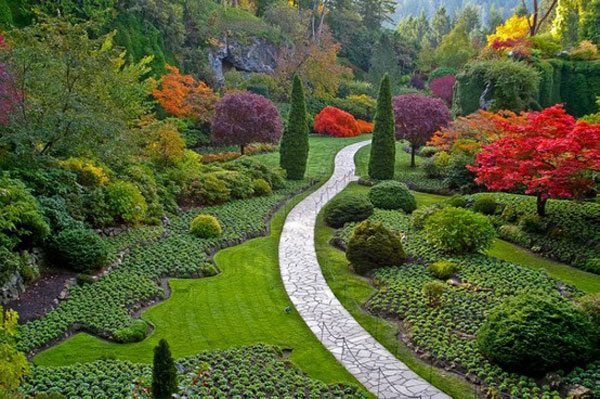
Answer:
[[[251,346],[178,359],[180,394],[186,397],[317,397],[362,399],[354,385],[311,379],[283,358],[278,348]],[[65,367],[34,366],[21,387],[26,396],[57,392],[67,398],[150,399],[150,365],[100,360]]]

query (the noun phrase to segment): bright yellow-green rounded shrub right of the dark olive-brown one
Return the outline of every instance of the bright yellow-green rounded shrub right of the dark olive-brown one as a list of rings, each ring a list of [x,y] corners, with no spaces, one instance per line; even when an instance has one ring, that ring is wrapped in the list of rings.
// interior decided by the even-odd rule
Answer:
[[[436,249],[457,255],[487,249],[496,236],[494,226],[485,216],[454,207],[428,217],[423,233]]]

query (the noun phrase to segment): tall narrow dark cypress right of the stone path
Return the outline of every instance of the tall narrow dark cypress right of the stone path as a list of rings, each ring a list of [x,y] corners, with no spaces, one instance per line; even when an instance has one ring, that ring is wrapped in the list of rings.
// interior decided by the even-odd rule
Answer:
[[[387,74],[381,79],[377,113],[369,158],[369,177],[375,180],[394,178],[396,162],[396,139],[394,137],[394,109],[392,108],[392,92],[390,78]]]

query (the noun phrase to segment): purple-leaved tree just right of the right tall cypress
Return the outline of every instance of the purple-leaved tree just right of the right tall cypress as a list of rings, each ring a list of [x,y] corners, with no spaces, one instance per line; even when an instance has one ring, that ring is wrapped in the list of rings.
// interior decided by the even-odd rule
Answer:
[[[425,145],[433,133],[450,121],[450,111],[439,98],[421,94],[394,97],[396,138],[408,140],[414,148]]]

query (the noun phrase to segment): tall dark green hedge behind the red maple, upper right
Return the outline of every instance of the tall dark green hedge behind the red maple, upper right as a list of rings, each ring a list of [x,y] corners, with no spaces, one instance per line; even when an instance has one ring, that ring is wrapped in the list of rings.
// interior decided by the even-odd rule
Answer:
[[[537,61],[532,66],[513,61],[472,62],[457,76],[454,113],[468,115],[477,111],[489,81],[496,84],[494,108],[518,112],[564,103],[567,111],[576,117],[598,111],[600,61],[551,59]]]

